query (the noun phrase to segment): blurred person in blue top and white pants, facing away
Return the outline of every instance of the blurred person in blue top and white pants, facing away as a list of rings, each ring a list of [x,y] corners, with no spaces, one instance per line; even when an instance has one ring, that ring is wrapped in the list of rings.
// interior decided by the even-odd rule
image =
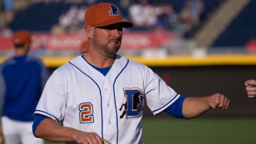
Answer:
[[[14,56],[0,65],[0,116],[5,144],[43,144],[32,134],[33,112],[50,76],[41,59],[29,56],[31,33],[13,35]]]

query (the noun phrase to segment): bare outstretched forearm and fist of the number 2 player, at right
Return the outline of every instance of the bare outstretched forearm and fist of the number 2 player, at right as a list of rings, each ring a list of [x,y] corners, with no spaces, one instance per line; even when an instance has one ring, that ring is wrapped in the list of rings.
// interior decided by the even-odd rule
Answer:
[[[192,119],[213,108],[226,110],[228,105],[229,100],[219,93],[203,97],[186,97],[182,105],[182,114],[184,118]]]

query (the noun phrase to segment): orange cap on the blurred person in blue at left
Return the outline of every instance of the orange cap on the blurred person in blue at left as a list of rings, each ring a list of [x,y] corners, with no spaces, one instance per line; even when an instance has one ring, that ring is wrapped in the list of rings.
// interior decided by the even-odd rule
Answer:
[[[31,34],[27,30],[19,30],[13,34],[14,44],[25,44],[31,42]]]

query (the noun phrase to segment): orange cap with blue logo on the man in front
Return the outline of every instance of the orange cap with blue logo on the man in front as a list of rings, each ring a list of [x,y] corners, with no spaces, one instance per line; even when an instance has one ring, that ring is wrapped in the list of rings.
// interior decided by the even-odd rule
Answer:
[[[121,23],[122,28],[131,28],[133,23],[122,20],[120,9],[112,3],[96,3],[85,12],[85,26],[103,27]]]

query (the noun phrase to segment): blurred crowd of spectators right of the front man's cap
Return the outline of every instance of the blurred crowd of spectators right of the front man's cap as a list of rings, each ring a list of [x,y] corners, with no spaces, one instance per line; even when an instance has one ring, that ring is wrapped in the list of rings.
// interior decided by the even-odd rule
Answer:
[[[173,30],[188,38],[200,24],[204,3],[202,0],[187,0],[178,11],[171,3],[151,4],[149,0],[138,0],[131,4],[128,12],[136,28]]]

